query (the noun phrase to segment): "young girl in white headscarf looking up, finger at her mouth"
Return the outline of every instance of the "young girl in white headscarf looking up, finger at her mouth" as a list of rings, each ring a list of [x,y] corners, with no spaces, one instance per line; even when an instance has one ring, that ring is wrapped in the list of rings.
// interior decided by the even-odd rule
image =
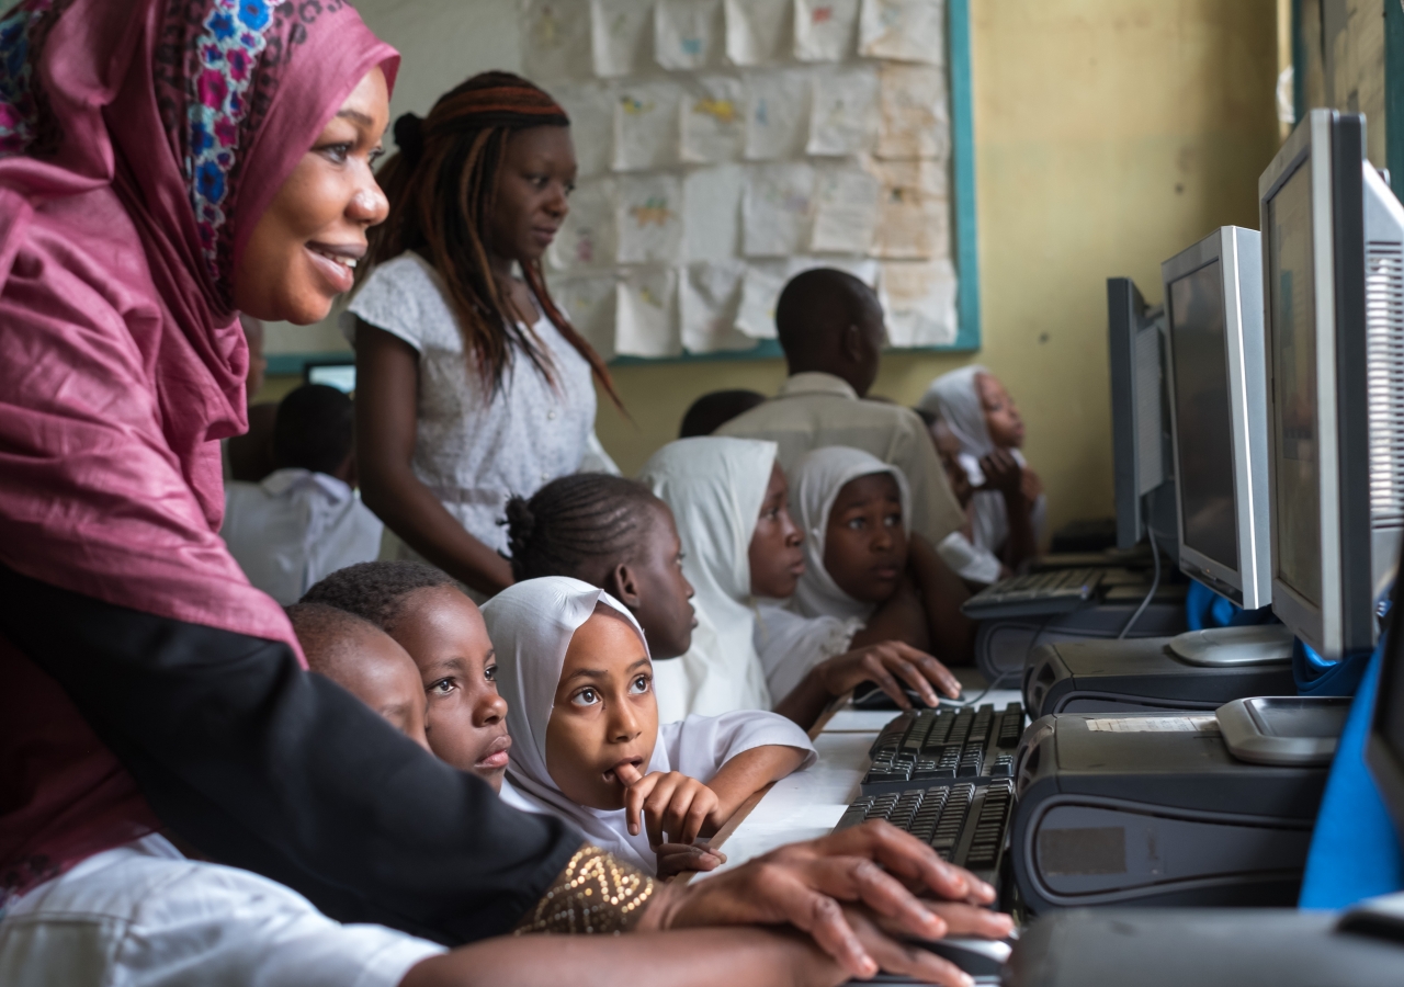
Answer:
[[[550,576],[483,605],[507,701],[514,796],[649,873],[710,870],[696,842],[769,782],[814,762],[797,726],[760,710],[658,726],[653,663],[604,590]]]

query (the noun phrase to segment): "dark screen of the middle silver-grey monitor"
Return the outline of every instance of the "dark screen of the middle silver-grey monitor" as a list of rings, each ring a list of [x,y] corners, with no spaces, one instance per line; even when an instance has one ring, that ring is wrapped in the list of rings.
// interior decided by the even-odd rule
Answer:
[[[1171,282],[1170,337],[1184,542],[1237,571],[1228,351],[1217,260]]]

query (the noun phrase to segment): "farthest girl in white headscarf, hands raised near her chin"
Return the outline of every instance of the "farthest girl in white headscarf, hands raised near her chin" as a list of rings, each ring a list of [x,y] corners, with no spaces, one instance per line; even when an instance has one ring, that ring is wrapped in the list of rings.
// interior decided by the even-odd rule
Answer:
[[[1019,451],[1024,420],[1014,399],[987,368],[972,364],[932,380],[920,407],[938,413],[960,442],[960,465],[976,489],[967,508],[976,549],[1018,571],[1038,555],[1047,501]]]

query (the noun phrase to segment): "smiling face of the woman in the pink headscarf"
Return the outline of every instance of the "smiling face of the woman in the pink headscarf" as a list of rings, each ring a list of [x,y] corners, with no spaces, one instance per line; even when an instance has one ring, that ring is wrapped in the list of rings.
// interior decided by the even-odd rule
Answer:
[[[365,232],[389,204],[372,163],[390,115],[385,73],[371,69],[258,218],[234,267],[234,307],[309,324],[351,289]]]

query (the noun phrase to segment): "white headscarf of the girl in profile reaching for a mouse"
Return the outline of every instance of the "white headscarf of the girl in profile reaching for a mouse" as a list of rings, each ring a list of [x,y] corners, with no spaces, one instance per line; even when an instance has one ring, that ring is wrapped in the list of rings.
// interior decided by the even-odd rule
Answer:
[[[670,508],[682,541],[682,574],[696,595],[692,647],[660,663],[658,716],[710,716],[769,709],[771,694],[753,642],[751,536],[775,466],[775,442],[684,438],[644,463],[639,479]]]

